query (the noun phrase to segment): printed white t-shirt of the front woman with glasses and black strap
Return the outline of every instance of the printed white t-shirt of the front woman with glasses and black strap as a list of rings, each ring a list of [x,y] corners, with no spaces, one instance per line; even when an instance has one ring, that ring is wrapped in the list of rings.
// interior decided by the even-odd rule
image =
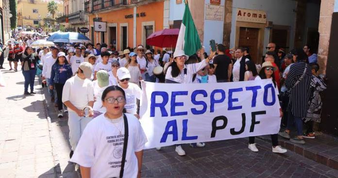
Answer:
[[[123,177],[136,178],[138,165],[135,152],[142,151],[148,140],[136,117],[128,113],[126,116],[129,137]],[[70,161],[90,167],[91,178],[118,178],[123,153],[123,138],[123,115],[118,119],[109,119],[101,114],[85,127]]]

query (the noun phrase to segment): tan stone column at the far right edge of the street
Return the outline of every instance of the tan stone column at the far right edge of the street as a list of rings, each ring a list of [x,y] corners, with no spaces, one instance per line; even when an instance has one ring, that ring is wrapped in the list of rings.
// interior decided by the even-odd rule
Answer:
[[[334,10],[335,0],[321,0],[321,13],[319,16],[319,47],[318,47],[318,64],[320,73],[325,74],[327,55],[329,52],[330,33],[332,13]]]

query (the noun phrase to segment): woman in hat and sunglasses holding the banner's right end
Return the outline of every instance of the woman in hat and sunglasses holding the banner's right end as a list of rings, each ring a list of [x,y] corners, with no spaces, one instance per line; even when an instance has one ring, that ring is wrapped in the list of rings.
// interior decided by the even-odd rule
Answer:
[[[273,71],[276,67],[274,67],[270,62],[264,62],[262,65],[262,69],[259,71],[259,76],[257,76],[254,80],[262,80],[262,79],[271,79],[273,85],[275,87],[275,92],[279,94],[277,83],[274,79]],[[279,108],[280,117],[283,116],[282,109]],[[249,146],[248,148],[251,151],[258,152],[256,144],[254,143],[255,137],[249,137]],[[271,142],[272,142],[272,152],[273,153],[286,153],[287,149],[283,148],[282,146],[278,145],[278,134],[271,134]]]

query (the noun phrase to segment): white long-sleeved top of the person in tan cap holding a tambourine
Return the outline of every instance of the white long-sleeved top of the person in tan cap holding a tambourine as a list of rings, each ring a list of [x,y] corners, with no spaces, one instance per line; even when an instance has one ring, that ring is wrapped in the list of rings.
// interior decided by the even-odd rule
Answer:
[[[77,109],[82,110],[89,101],[94,101],[92,82],[89,79],[82,80],[77,75],[68,79],[62,92],[62,102],[66,101],[70,101]],[[68,110],[74,112],[70,108]]]

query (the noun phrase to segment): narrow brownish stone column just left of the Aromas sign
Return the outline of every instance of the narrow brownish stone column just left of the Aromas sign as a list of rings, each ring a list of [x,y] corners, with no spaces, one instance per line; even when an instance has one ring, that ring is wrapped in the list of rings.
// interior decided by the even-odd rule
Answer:
[[[231,19],[232,19],[232,8],[233,8],[232,2],[233,0],[225,0],[225,7],[224,7],[223,45],[227,49],[230,48]]]

